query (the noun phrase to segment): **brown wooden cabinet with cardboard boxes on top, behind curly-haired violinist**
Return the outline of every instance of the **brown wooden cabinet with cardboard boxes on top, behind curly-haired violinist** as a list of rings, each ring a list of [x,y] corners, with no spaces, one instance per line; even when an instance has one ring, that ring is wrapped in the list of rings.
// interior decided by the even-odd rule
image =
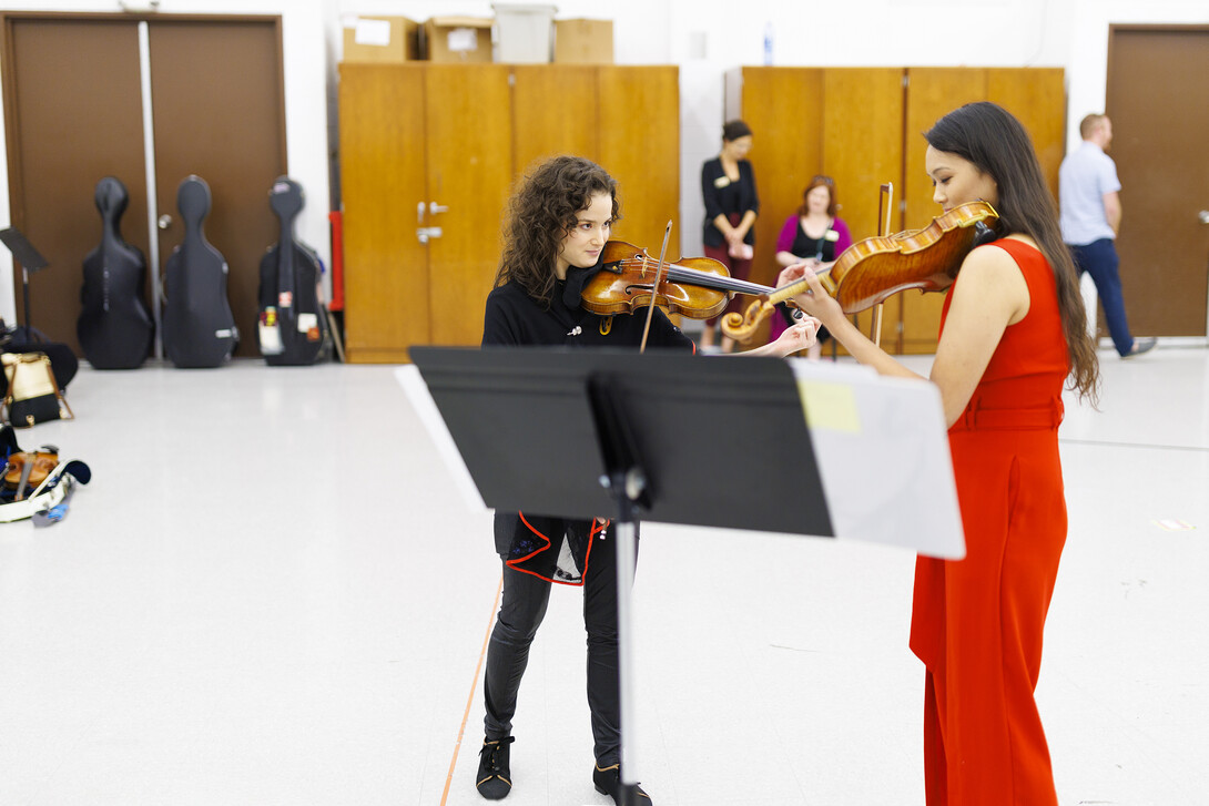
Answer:
[[[545,157],[603,166],[613,237],[658,243],[678,219],[678,98],[675,66],[342,64],[348,360],[479,343],[504,205]]]

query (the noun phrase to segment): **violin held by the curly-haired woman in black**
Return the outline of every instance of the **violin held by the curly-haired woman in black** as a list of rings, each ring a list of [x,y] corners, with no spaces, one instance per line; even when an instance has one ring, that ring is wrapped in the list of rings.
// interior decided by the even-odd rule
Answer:
[[[600,315],[634,313],[654,302],[667,313],[688,319],[710,319],[725,309],[728,291],[762,296],[776,289],[730,277],[727,266],[711,257],[664,261],[664,279],[654,288],[659,260],[624,240],[604,244],[602,267],[584,285],[580,306]]]

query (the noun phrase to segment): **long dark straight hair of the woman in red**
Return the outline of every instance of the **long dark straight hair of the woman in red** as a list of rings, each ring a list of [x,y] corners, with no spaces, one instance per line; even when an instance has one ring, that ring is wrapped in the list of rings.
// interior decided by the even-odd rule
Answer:
[[[955,153],[995,180],[1000,233],[1029,236],[1049,261],[1070,354],[1071,388],[1094,404],[1100,367],[1095,344],[1087,332],[1078,273],[1063,243],[1058,207],[1024,127],[1002,106],[979,102],[949,112],[924,137],[937,151]]]

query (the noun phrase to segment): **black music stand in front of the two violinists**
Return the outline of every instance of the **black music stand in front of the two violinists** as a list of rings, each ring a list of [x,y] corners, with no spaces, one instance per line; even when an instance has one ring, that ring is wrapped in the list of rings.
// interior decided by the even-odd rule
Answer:
[[[617,523],[621,783],[630,588],[648,521],[834,537],[789,365],[684,353],[412,347],[484,503]],[[719,441],[721,439],[721,441]],[[741,440],[751,451],[719,443]]]

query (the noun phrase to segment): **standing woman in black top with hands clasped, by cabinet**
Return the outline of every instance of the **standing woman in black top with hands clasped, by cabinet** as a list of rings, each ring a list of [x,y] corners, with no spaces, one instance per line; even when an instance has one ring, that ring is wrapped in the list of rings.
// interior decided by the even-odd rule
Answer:
[[[756,174],[745,157],[752,147],[752,131],[742,121],[729,121],[722,127],[722,151],[701,166],[701,198],[705,202],[705,231],[701,239],[705,256],[712,257],[730,269],[735,279],[746,280],[752,271],[756,248],[756,216],[759,215],[759,196],[756,193]],[[727,309],[742,313],[739,297],[730,301]],[[718,317],[707,319],[701,332],[701,346],[713,346],[713,329]],[[722,337],[722,352],[729,353],[735,342]]]

